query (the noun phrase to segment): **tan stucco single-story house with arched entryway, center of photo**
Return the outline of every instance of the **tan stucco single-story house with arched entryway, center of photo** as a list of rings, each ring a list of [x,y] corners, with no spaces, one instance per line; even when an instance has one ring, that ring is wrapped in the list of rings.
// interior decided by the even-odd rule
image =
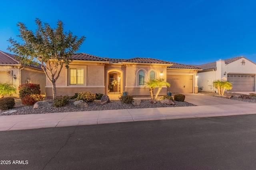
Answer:
[[[195,66],[181,65],[153,58],[114,59],[86,53],[72,55],[68,69],[63,67],[56,81],[57,97],[90,91],[92,93],[149,95],[145,81],[164,79],[171,87],[163,87],[160,95],[197,93]],[[157,91],[157,88],[155,89]],[[46,97],[52,97],[52,84],[46,80]]]

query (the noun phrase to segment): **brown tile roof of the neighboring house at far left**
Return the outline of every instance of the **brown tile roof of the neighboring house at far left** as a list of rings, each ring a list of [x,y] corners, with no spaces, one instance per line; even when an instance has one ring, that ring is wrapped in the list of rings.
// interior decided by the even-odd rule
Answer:
[[[20,61],[18,59],[15,59],[15,55],[0,51],[0,64],[20,64]],[[27,64],[24,64],[24,65],[27,65]],[[30,64],[28,66],[42,69],[41,64],[39,65]]]

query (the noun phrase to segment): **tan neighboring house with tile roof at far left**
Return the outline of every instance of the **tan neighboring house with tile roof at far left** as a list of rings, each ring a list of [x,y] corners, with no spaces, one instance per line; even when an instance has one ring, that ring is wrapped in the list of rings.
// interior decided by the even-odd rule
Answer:
[[[14,97],[18,97],[19,85],[25,83],[40,84],[41,93],[45,93],[46,75],[40,65],[21,64],[15,55],[0,51],[0,83],[6,82],[16,87]]]

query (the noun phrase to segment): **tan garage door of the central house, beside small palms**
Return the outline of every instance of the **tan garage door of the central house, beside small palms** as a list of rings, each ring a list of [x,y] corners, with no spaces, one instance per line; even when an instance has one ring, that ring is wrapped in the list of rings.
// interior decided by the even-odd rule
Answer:
[[[193,93],[192,75],[167,75],[166,81],[171,85],[167,90],[172,93]]]

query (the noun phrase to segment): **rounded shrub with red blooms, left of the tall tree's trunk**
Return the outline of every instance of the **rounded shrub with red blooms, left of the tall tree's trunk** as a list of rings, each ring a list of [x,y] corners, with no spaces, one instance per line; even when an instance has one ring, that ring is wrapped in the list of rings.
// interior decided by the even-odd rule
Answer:
[[[33,84],[33,83],[26,83],[26,84],[20,85],[18,87],[18,90],[19,90],[20,98],[23,98],[26,95],[34,95],[34,94],[40,95],[40,93],[41,93],[40,85]]]

